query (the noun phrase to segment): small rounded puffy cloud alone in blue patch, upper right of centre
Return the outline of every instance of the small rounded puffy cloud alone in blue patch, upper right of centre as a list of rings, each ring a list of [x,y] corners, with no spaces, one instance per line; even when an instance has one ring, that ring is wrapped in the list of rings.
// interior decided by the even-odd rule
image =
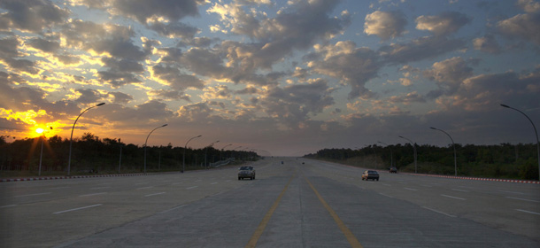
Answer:
[[[407,19],[403,12],[376,11],[366,15],[364,32],[388,40],[403,35]]]

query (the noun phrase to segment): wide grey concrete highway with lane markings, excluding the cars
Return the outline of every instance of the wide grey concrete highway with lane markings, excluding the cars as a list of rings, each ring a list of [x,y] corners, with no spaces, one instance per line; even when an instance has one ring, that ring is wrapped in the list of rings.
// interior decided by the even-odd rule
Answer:
[[[282,164],[281,161],[284,161]],[[540,247],[540,184],[436,178],[311,159],[0,183],[2,247]]]

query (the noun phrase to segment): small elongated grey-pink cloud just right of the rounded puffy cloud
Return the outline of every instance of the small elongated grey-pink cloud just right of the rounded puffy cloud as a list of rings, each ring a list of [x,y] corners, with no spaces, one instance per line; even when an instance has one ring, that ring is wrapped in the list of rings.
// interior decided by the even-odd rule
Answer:
[[[450,35],[470,22],[471,19],[463,13],[443,12],[436,16],[419,16],[416,18],[416,28],[435,35]]]

